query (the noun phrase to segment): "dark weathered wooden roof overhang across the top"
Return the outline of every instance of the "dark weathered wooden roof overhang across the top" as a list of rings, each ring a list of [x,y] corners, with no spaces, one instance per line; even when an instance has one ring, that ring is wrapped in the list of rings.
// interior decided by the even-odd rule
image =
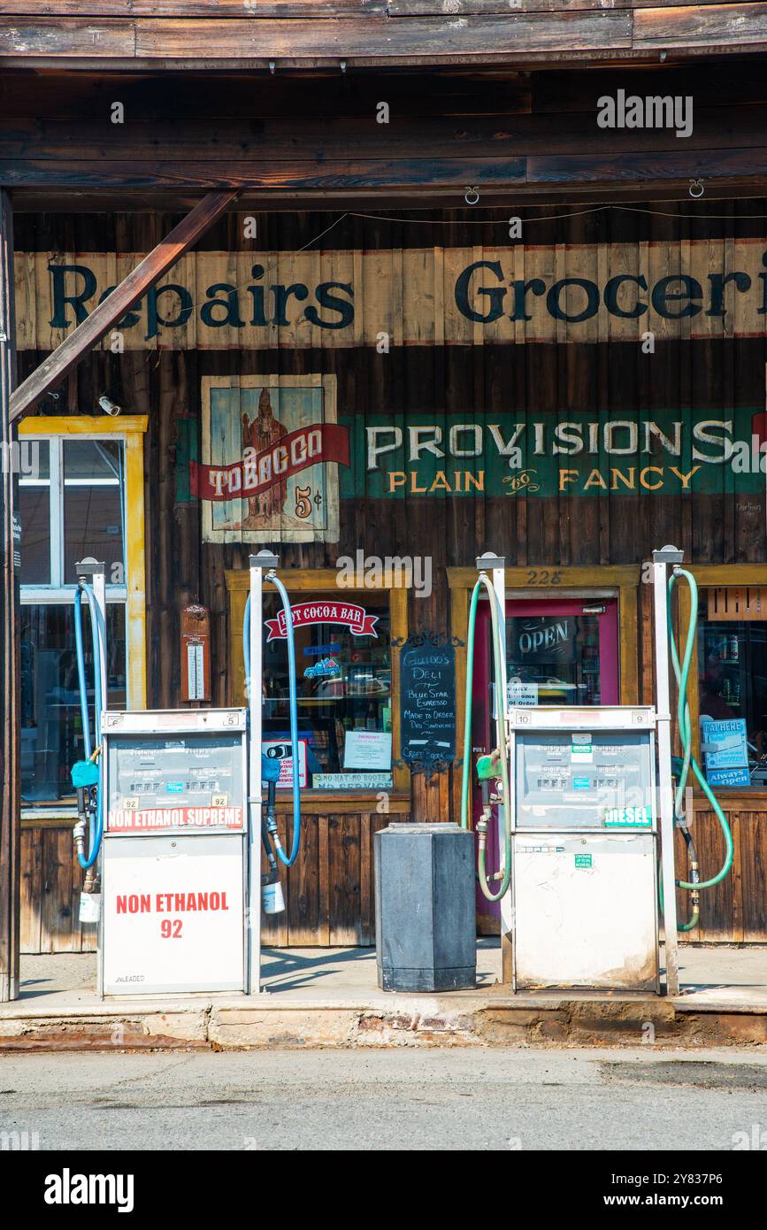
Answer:
[[[0,187],[107,212],[761,196],[766,69],[767,4],[735,0],[0,0]],[[692,93],[693,134],[597,128],[618,89]]]

